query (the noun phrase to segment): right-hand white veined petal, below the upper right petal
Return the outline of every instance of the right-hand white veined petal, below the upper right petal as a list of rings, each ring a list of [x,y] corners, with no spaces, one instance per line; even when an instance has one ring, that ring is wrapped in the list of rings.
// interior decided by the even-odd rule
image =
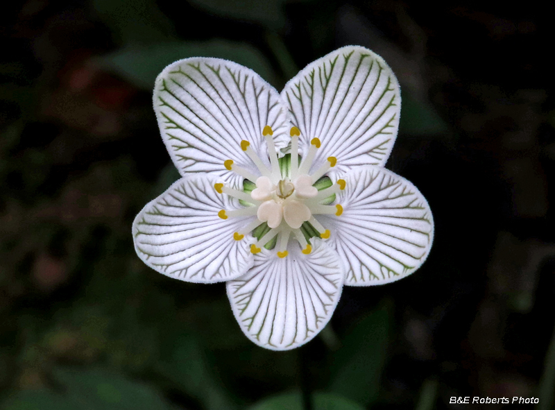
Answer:
[[[429,205],[411,182],[379,166],[343,176],[341,216],[318,215],[345,264],[345,284],[368,286],[405,277],[420,267],[434,239]]]

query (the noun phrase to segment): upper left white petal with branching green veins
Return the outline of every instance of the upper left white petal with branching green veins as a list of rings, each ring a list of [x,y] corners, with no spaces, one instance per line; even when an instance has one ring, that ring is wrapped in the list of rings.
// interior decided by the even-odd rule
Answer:
[[[241,187],[243,178],[223,162],[233,160],[259,175],[241,148],[242,140],[268,167],[264,127],[272,128],[278,150],[289,142],[287,106],[280,94],[253,70],[228,60],[174,62],[157,77],[153,100],[162,139],[182,176],[214,173]]]

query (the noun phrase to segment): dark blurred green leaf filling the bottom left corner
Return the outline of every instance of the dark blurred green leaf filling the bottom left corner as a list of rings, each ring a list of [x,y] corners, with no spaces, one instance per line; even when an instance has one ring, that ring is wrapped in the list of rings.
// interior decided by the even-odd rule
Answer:
[[[3,410],[169,410],[156,391],[103,370],[57,368],[54,377],[65,393],[22,391]]]

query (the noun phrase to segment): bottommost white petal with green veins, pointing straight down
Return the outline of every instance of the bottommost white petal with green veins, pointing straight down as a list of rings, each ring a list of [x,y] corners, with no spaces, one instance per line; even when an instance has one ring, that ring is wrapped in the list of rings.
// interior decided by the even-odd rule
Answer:
[[[343,265],[321,240],[311,241],[309,255],[292,241],[284,258],[263,249],[246,275],[227,284],[241,330],[263,348],[289,350],[307,343],[330,321],[339,301]]]

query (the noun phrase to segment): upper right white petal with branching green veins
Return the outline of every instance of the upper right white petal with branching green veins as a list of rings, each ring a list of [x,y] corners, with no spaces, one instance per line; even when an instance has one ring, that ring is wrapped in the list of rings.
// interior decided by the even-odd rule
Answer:
[[[400,91],[386,62],[368,49],[346,46],[309,64],[282,91],[300,130],[300,153],[321,140],[311,173],[336,157],[328,175],[353,166],[384,165],[397,137]]]

